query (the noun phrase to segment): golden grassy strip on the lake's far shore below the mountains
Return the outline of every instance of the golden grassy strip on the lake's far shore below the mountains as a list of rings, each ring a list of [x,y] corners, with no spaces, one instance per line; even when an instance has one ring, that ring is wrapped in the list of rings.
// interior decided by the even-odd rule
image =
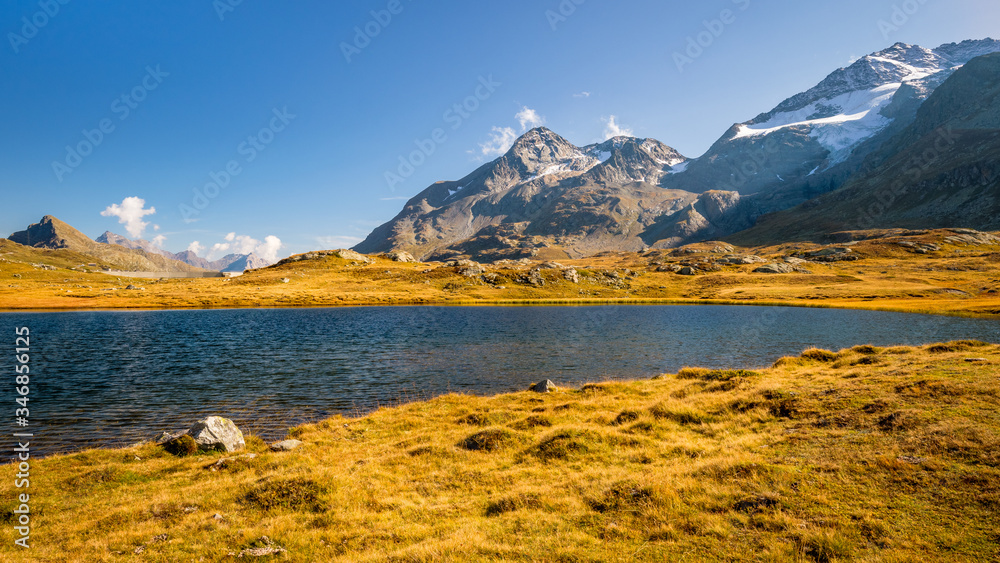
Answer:
[[[323,307],[403,304],[715,303],[882,309],[1000,315],[1000,245],[948,242],[954,233],[886,234],[850,247],[857,261],[807,262],[809,273],[754,273],[760,264],[720,265],[726,254],[782,262],[817,251],[801,243],[730,248],[703,243],[684,251],[608,254],[560,260],[542,269],[544,286],[528,283],[530,265],[488,266],[464,276],[440,263],[370,263],[334,256],[291,262],[235,279],[144,280],[68,269],[82,258],[0,241],[0,309],[158,309]],[[932,244],[917,254],[906,244]],[[44,256],[39,256],[45,254]],[[544,256],[544,252],[542,256]],[[45,260],[55,270],[37,266]],[[713,262],[715,264],[713,264]],[[36,265],[32,265],[36,264]],[[659,271],[691,264],[696,275]],[[566,279],[565,269],[579,276]],[[137,289],[127,289],[133,286]]]

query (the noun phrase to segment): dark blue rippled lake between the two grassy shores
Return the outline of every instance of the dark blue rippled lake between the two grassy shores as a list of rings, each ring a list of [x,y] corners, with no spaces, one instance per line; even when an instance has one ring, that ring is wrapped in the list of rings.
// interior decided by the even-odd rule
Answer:
[[[995,320],[779,307],[4,313],[8,373],[19,326],[31,329],[35,454],[127,445],[210,414],[275,439],[337,413],[546,378],[576,386],[683,366],[762,367],[812,346],[1000,342]]]

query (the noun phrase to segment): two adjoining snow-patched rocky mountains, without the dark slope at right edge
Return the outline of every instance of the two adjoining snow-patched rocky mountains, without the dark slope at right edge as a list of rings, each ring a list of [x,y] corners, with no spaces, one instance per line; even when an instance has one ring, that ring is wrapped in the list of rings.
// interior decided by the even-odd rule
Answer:
[[[557,259],[723,237],[837,190],[888,158],[882,147],[912,144],[903,133],[913,134],[925,100],[996,52],[992,39],[933,50],[897,43],[732,126],[696,159],[653,139],[577,147],[533,129],[465,178],[428,187],[355,250]],[[974,90],[959,92],[979,102]]]

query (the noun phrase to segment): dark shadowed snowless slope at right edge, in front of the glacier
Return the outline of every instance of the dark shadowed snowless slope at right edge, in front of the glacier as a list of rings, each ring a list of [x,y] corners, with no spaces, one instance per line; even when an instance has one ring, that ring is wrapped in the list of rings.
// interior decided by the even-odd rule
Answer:
[[[957,70],[842,188],[762,217],[730,240],[889,227],[1000,230],[1000,53]]]

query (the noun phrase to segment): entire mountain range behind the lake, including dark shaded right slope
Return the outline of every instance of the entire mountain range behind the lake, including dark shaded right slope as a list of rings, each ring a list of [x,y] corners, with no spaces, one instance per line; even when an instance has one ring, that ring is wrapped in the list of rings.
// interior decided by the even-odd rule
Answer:
[[[967,211],[993,209],[1000,195],[992,175],[998,101],[977,86],[1000,76],[991,55],[997,52],[1000,41],[992,39],[936,49],[897,43],[733,125],[693,159],[654,139],[615,137],[577,147],[533,129],[500,158],[410,199],[355,250],[489,261],[670,248],[755,225],[744,239],[901,221],[991,228],[995,214]],[[928,144],[933,148],[941,127],[963,131],[962,140],[927,166],[916,165],[921,177],[912,180],[919,186],[864,224],[845,219],[846,209],[907,171],[912,176],[913,159]],[[957,186],[976,182],[948,206],[926,194],[917,201],[918,192],[951,197]]]

